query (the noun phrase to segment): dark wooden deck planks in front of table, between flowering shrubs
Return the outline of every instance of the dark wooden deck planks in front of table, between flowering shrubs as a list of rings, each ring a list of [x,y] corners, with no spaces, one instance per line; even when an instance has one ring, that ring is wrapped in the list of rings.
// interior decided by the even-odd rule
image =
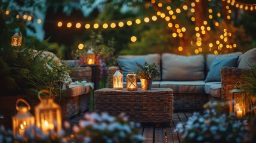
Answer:
[[[142,123],[140,133],[144,137],[143,143],[171,143],[180,142],[180,136],[177,132],[173,132],[177,123],[185,123],[192,116],[189,112],[174,113],[171,123]],[[70,120],[73,125],[81,119],[82,116]],[[72,134],[70,130],[70,134]]]

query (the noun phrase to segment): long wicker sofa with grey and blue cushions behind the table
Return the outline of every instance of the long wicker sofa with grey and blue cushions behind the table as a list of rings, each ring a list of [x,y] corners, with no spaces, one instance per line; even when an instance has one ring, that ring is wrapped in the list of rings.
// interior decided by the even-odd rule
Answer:
[[[229,77],[229,73],[223,77],[224,72],[226,72],[225,69],[221,71],[223,74],[220,75],[221,67],[235,68],[239,66],[240,61],[243,61],[243,64],[246,62],[253,63],[256,61],[255,51],[256,48],[245,52],[245,54],[233,52],[222,55],[207,54],[205,56],[183,56],[168,53],[162,55],[119,55],[119,67],[109,68],[108,87],[112,88],[112,76],[116,70],[121,69],[125,77],[128,71],[137,70],[135,61],[138,63],[156,63],[161,77],[153,81],[152,88],[172,88],[175,111],[203,110],[203,104],[209,100],[226,101],[229,98],[225,94],[221,95],[221,92],[227,94],[227,91],[230,90],[221,86],[221,83],[224,84],[221,78]],[[248,59],[246,61],[246,56],[243,56],[248,55],[248,53],[252,55],[252,61]],[[235,81],[230,82],[236,83]],[[124,87],[126,87],[126,82],[124,82]],[[140,88],[140,82],[138,82],[138,88]]]

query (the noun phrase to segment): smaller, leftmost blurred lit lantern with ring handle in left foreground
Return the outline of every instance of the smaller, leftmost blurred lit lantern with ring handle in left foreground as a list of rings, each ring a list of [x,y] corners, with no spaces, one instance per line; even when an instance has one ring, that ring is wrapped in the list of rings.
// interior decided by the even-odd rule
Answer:
[[[19,102],[23,102],[26,106],[18,106]],[[18,113],[13,116],[13,135],[23,136],[26,129],[29,129],[35,125],[35,117],[30,114],[30,105],[23,99],[18,99],[16,101],[16,109]]]

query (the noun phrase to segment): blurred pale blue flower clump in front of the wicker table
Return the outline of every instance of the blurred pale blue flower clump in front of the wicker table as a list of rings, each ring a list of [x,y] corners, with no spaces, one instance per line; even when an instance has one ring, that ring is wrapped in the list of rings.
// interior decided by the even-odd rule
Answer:
[[[78,125],[73,126],[75,138],[80,142],[142,142],[139,125],[128,122],[127,117],[102,114],[85,114]]]

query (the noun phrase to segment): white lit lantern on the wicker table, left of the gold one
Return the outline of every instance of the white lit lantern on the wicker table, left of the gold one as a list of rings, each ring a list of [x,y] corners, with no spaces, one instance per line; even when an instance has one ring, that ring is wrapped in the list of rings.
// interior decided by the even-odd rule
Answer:
[[[124,75],[121,70],[117,70],[113,75],[113,89],[121,90],[124,85]]]

